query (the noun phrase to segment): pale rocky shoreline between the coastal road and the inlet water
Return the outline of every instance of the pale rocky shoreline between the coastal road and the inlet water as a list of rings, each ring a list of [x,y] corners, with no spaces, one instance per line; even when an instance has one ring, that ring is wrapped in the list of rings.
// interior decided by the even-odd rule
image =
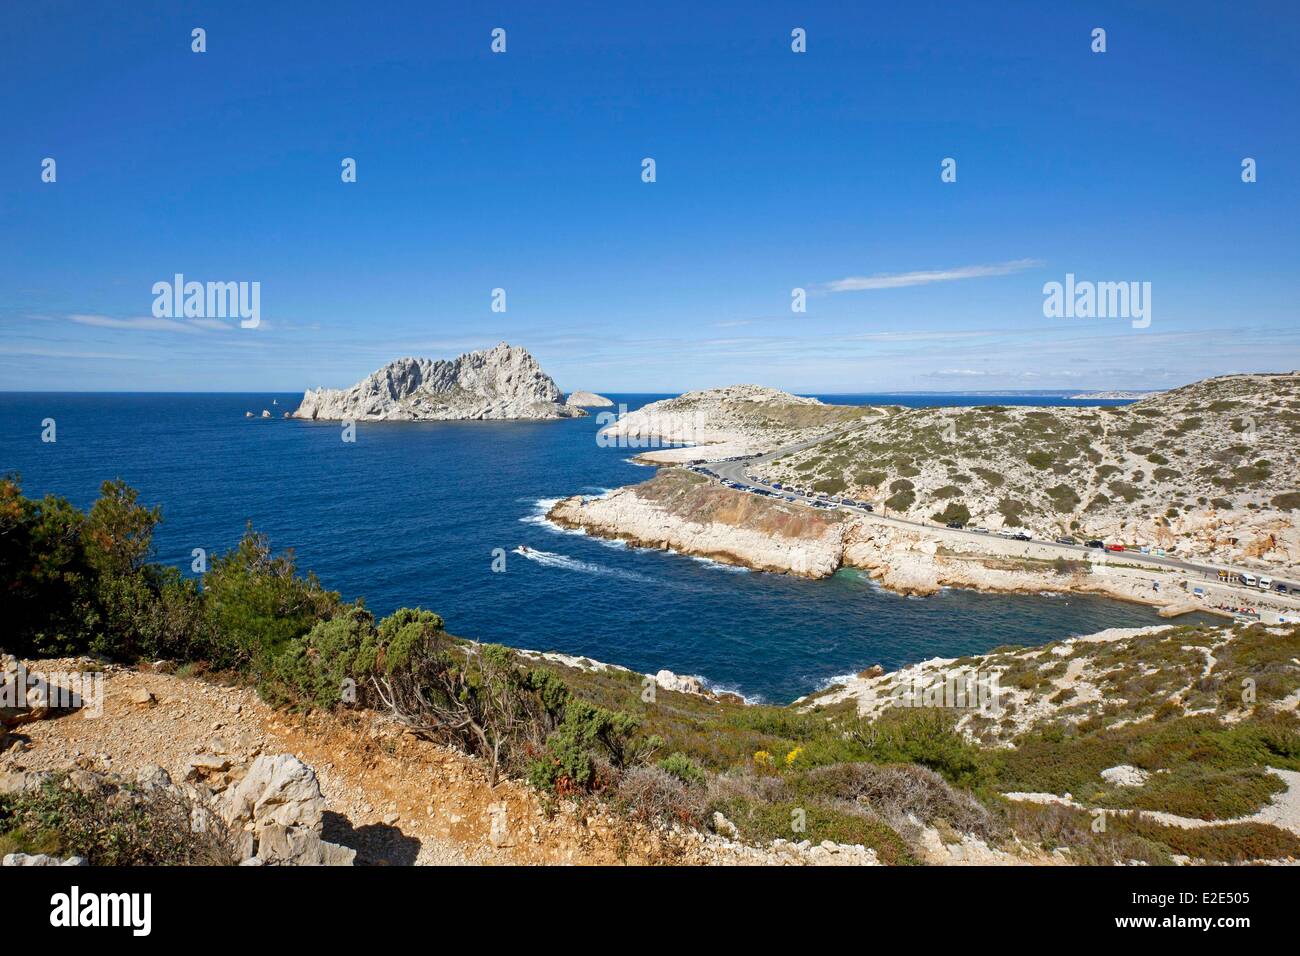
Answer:
[[[840,568],[866,572],[888,591],[926,596],[941,588],[1001,593],[1084,593],[1160,607],[1166,617],[1240,602],[1238,589],[1176,568],[1124,564],[1097,553],[1062,559],[1037,542],[974,538],[946,528],[890,524],[876,516],[812,512],[733,492],[685,472],[662,472],[642,485],[601,498],[564,498],[547,512],[559,527],[675,550],[755,571],[827,578]],[[1192,588],[1201,588],[1205,600]],[[1284,596],[1251,596],[1265,614],[1297,615]]]

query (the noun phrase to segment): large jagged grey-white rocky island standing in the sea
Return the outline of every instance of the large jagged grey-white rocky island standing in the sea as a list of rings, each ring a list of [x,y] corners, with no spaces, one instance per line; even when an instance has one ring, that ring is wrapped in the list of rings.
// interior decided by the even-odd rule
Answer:
[[[563,419],[585,415],[526,349],[502,342],[452,360],[404,358],[350,389],[303,395],[296,419],[325,421],[436,421]]]

